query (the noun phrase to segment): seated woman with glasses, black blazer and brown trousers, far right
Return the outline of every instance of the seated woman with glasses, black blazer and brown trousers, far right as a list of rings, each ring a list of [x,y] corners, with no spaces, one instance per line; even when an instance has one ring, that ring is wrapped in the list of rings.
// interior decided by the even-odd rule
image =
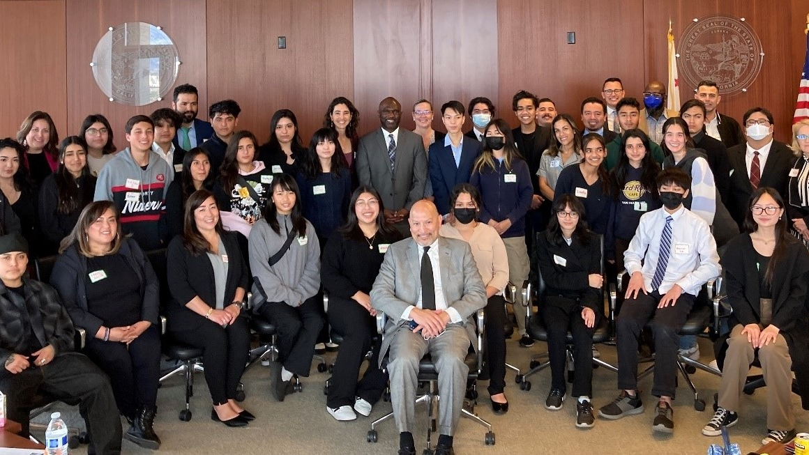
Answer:
[[[735,424],[739,398],[755,352],[767,382],[767,436],[781,444],[795,436],[792,371],[803,407],[809,403],[809,252],[789,234],[784,200],[760,187],[748,204],[745,234],[727,243],[722,255],[731,333],[717,343],[722,365],[718,407],[702,434],[718,436]]]

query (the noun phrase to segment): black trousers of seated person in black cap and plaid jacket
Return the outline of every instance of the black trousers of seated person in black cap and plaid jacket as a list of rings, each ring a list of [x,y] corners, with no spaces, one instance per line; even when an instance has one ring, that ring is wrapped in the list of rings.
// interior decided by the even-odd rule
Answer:
[[[107,375],[86,356],[65,352],[49,364],[31,366],[17,374],[0,369],[0,390],[6,394],[7,417],[22,424],[22,436],[28,436],[28,413],[36,395],[66,401],[78,399],[95,453],[121,453],[121,418],[112,387]]]

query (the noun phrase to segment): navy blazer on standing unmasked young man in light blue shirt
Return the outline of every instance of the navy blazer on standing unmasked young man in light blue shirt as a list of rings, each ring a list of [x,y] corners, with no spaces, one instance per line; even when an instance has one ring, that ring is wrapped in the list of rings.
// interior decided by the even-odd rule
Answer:
[[[435,141],[430,145],[430,183],[433,184],[435,207],[442,215],[450,212],[452,189],[458,183],[469,183],[472,166],[481,154],[482,145],[477,140],[464,136],[460,144],[460,166],[457,167],[451,146],[444,145],[444,141]]]

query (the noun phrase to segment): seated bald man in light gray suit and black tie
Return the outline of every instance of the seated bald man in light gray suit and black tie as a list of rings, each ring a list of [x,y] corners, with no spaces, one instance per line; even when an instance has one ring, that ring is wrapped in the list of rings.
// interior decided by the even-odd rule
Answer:
[[[464,404],[469,372],[464,359],[476,338],[473,317],[486,305],[486,292],[468,243],[438,237],[441,216],[432,202],[413,204],[409,225],[412,238],[388,248],[371,290],[371,305],[388,316],[379,359],[390,349],[399,453],[414,454],[410,429],[415,423],[418,363],[430,353],[441,396],[435,454],[447,455]]]

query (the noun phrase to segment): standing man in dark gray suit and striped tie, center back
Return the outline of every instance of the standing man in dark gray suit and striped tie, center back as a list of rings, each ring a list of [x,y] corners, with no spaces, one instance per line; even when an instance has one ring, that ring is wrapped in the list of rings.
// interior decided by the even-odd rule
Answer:
[[[424,197],[427,155],[419,135],[399,128],[401,115],[395,98],[379,103],[382,128],[360,138],[355,168],[359,184],[374,187],[382,196],[385,220],[407,235],[409,210]]]

